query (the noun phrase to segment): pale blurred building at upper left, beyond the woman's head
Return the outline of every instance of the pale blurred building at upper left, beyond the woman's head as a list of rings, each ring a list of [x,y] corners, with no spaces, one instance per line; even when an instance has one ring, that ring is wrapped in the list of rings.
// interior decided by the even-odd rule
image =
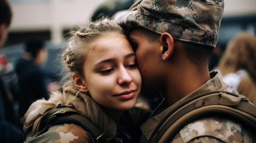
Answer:
[[[67,31],[90,19],[104,0],[9,0],[13,19],[6,46],[38,36],[59,44]]]

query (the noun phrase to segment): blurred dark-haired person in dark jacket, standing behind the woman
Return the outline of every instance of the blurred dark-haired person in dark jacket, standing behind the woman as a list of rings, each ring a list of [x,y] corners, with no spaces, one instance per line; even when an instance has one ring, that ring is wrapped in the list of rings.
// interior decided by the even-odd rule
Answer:
[[[47,48],[42,40],[29,39],[25,44],[22,57],[16,62],[15,68],[20,89],[19,115],[21,119],[33,101],[49,98],[46,83],[47,75],[41,69],[41,66],[47,60],[47,54]]]

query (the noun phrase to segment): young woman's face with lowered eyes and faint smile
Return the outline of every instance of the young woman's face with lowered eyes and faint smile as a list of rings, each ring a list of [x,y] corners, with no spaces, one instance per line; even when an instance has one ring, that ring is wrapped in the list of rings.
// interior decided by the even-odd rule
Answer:
[[[101,106],[129,110],[141,90],[135,54],[124,35],[110,33],[99,38],[84,63],[84,83]]]

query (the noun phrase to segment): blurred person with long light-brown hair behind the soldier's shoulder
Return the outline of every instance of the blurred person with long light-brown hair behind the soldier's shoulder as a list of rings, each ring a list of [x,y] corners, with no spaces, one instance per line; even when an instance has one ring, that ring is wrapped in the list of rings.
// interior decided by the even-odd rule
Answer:
[[[229,85],[256,104],[256,36],[248,31],[238,32],[227,44],[216,68]]]

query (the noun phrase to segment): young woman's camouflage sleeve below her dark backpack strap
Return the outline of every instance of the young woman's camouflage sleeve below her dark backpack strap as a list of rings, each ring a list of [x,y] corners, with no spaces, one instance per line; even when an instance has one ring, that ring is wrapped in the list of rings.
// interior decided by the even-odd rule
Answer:
[[[88,132],[79,125],[54,125],[49,130],[27,143],[94,143]]]

